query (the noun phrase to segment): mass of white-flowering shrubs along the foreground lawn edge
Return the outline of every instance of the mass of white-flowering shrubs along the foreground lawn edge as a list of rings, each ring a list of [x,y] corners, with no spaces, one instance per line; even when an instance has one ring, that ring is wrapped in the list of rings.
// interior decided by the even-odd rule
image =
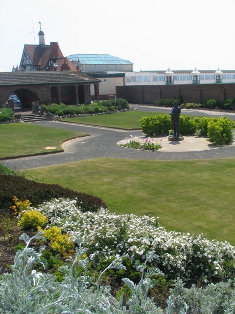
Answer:
[[[235,247],[226,241],[167,232],[155,217],[117,215],[104,208],[82,212],[70,199],[55,199],[37,209],[50,219],[50,226],[61,227],[74,240],[80,237],[93,263],[116,254],[143,261],[154,251],[151,264],[169,279],[208,283],[235,276]]]

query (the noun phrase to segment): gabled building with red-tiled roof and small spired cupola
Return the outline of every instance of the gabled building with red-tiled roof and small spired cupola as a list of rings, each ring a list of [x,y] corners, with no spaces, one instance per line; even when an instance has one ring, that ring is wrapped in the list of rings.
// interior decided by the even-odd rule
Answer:
[[[12,71],[77,71],[76,66],[63,55],[57,42],[45,44],[40,26],[39,45],[24,45],[20,66]]]

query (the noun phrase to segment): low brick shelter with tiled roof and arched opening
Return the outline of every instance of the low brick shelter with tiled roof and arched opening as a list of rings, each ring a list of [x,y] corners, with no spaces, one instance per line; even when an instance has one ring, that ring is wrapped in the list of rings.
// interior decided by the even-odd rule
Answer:
[[[0,72],[0,106],[11,94],[19,97],[22,108],[29,109],[32,102],[90,104],[93,84],[99,99],[99,82],[76,71]]]

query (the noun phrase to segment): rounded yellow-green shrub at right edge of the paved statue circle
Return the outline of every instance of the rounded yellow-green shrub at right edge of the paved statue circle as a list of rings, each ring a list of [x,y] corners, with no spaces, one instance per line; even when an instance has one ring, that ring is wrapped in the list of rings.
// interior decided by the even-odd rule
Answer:
[[[233,141],[234,122],[227,117],[208,122],[209,141],[215,145],[230,144]]]

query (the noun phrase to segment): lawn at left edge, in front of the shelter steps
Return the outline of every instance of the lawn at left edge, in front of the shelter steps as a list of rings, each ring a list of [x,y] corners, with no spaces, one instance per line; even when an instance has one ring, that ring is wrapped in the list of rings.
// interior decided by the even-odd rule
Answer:
[[[53,129],[29,123],[0,125],[0,158],[63,151],[61,144],[82,132]],[[55,149],[45,149],[56,147]]]

